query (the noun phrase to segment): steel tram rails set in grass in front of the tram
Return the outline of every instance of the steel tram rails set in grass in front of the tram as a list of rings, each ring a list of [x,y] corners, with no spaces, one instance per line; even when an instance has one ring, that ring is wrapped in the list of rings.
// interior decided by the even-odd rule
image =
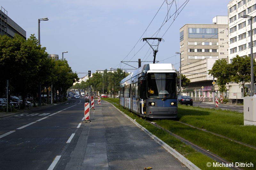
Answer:
[[[152,123],[152,121],[150,121],[150,120],[146,120],[146,121],[147,121],[148,123]],[[182,123],[182,124],[185,124],[185,125],[187,125],[187,126],[189,126],[189,127],[196,128],[196,129],[202,130],[202,131],[204,131],[204,132],[211,133],[211,134],[213,134],[213,135],[217,135],[217,136],[226,138],[226,139],[228,139],[228,140],[234,141],[234,140],[232,140],[232,139],[230,139],[230,138],[228,138],[228,137],[226,137],[226,136],[222,136],[222,135],[219,135],[219,134],[216,134],[216,133],[207,131],[207,130],[205,130],[205,129],[197,128],[197,127],[194,127],[194,126],[189,125],[189,124],[187,124],[187,123],[183,123],[183,122],[180,122],[180,121],[177,121],[177,122]],[[152,123],[152,124],[153,124],[155,127],[159,128],[159,129],[162,129],[162,130],[166,131],[167,133],[169,133],[170,135],[176,137],[177,139],[179,139],[180,141],[184,142],[185,144],[191,146],[191,147],[194,148],[196,151],[198,151],[198,152],[200,152],[200,153],[202,153],[202,154],[208,156],[209,158],[212,158],[213,160],[216,160],[216,161],[219,162],[219,163],[231,164],[230,162],[228,162],[228,161],[225,160],[224,158],[221,158],[221,157],[219,157],[218,155],[216,155],[216,154],[214,154],[214,153],[211,153],[210,151],[205,150],[204,148],[202,148],[202,147],[200,147],[200,146],[198,146],[198,145],[196,145],[196,144],[194,144],[194,143],[192,143],[192,142],[190,142],[190,141],[184,139],[183,137],[181,137],[181,136],[179,136],[179,135],[176,135],[176,134],[170,132],[169,130],[167,130],[167,129],[165,129],[165,128],[159,126],[159,125],[157,125],[156,123]],[[234,141],[234,142],[237,142],[237,143],[239,143],[239,144],[243,144],[243,145],[245,145],[245,146],[248,146],[248,147],[251,147],[251,148],[253,148],[253,149],[256,149],[256,147],[254,147],[254,146],[247,145],[247,144],[241,143],[241,142],[239,142],[239,141]],[[230,168],[231,168],[231,169],[236,169],[236,170],[242,170],[242,169],[239,168],[239,167],[230,167]]]

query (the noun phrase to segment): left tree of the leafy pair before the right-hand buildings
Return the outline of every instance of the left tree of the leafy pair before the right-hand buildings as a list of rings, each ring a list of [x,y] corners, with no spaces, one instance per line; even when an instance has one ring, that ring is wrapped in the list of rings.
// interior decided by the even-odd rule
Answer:
[[[208,70],[214,78],[217,78],[217,84],[221,92],[226,91],[226,84],[230,82],[231,73],[230,67],[226,59],[219,59],[215,61],[211,70]]]

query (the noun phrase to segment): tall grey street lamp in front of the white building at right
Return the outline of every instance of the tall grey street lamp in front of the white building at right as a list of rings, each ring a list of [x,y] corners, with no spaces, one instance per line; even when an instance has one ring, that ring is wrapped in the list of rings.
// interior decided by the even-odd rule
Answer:
[[[243,15],[242,18],[250,18],[251,22],[251,96],[254,94],[254,87],[253,87],[253,51],[252,51],[252,16],[249,15]]]

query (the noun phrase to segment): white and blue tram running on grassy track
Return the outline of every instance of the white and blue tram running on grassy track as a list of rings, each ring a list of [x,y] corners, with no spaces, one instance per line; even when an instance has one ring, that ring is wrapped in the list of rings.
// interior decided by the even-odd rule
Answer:
[[[176,118],[177,71],[173,64],[146,64],[120,82],[120,104],[147,118]]]

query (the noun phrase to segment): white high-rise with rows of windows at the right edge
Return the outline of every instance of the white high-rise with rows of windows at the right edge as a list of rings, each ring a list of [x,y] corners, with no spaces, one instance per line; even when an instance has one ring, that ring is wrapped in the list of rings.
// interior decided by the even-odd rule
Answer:
[[[243,18],[248,15],[249,18]],[[251,21],[252,17],[252,34]],[[232,0],[228,3],[228,27],[229,27],[229,63],[236,55],[251,56],[251,36],[253,44],[253,58],[256,58],[256,0]],[[246,92],[251,91],[250,83],[246,84]],[[244,89],[237,83],[229,83],[227,86],[230,98],[243,98]],[[249,90],[248,90],[249,89]],[[255,91],[255,85],[254,85]],[[237,95],[238,93],[238,95]],[[235,96],[233,96],[235,95]]]

